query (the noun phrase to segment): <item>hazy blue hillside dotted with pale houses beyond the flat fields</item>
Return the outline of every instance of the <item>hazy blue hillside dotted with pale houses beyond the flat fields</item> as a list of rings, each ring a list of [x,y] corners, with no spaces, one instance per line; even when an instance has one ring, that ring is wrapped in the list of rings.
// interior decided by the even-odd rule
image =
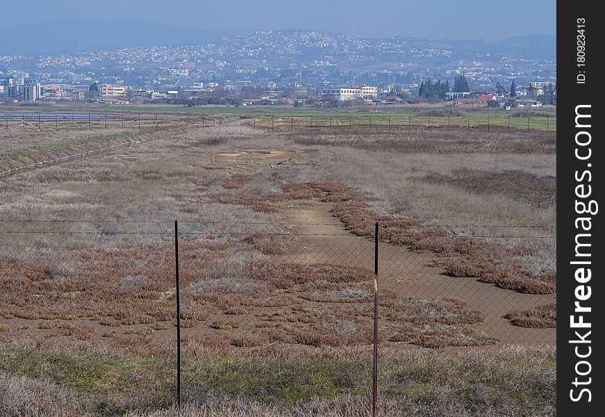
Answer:
[[[555,63],[542,49],[494,42],[259,31],[216,44],[0,56],[0,101],[350,106],[476,98],[507,107],[515,81],[514,105],[539,106],[556,104]],[[421,91],[459,76],[465,88]]]

